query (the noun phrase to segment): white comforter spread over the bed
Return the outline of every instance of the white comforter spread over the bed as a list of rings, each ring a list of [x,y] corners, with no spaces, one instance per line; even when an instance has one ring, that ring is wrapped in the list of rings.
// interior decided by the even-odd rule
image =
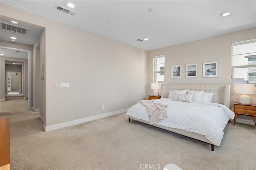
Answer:
[[[165,98],[154,101],[169,106],[168,118],[163,119],[157,125],[202,134],[216,146],[220,146],[224,135],[223,130],[228,120],[234,119],[234,112],[218,103],[188,103]],[[133,105],[128,109],[126,115],[148,121],[146,108],[141,103]]]

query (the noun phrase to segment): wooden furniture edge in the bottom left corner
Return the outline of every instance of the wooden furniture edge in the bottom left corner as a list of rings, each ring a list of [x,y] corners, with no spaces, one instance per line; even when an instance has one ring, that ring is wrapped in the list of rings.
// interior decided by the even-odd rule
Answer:
[[[10,170],[9,118],[0,119],[0,170]]]

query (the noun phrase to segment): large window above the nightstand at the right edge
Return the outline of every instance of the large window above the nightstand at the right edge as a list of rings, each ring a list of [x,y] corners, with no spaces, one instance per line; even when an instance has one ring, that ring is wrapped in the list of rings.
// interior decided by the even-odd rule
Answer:
[[[232,43],[232,81],[256,85],[256,40]]]

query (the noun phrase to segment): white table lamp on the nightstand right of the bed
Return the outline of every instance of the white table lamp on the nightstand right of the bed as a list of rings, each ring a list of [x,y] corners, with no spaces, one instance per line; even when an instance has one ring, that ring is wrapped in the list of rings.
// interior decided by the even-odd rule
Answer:
[[[255,85],[254,84],[235,84],[235,93],[242,94],[239,96],[239,103],[250,105],[252,99],[248,95],[255,94]]]

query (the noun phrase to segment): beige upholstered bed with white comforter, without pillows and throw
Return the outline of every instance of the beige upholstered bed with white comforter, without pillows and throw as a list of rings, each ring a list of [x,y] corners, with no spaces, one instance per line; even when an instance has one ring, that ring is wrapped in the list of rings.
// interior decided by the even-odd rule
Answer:
[[[229,85],[184,85],[184,84],[163,84],[162,98],[152,100],[156,103],[168,105],[168,118],[152,126],[163,128],[190,138],[201,140],[214,146],[220,146],[224,135],[224,128],[228,121],[234,119],[234,113],[230,107],[230,86]],[[211,103],[204,102],[184,102],[168,99],[170,91],[204,91],[204,93],[214,93]],[[177,95],[176,95],[177,96]],[[146,108],[137,103],[130,107],[126,117],[149,123]],[[198,121],[198,122],[196,122]]]

